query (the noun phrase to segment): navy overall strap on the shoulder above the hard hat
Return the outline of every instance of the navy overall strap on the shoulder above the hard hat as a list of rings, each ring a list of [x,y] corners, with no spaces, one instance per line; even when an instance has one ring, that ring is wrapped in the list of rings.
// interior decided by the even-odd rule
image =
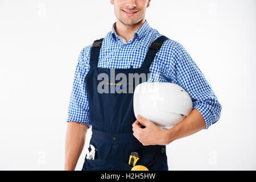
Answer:
[[[146,55],[145,59],[143,60],[141,67],[148,68],[148,69],[150,68],[150,65],[151,65],[152,61],[154,60],[156,53],[162,47],[165,40],[168,40],[168,38],[166,36],[162,35],[162,36],[159,36],[159,38],[157,38],[151,44],[151,46],[148,48],[147,55]]]

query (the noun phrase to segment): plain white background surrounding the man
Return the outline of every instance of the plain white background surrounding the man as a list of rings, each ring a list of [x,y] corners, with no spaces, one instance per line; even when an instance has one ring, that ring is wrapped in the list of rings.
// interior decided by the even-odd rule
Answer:
[[[151,1],[150,26],[187,49],[222,105],[208,130],[167,146],[170,170],[256,169],[255,10],[255,0]],[[1,170],[64,169],[77,58],[114,22],[105,0],[0,0]]]

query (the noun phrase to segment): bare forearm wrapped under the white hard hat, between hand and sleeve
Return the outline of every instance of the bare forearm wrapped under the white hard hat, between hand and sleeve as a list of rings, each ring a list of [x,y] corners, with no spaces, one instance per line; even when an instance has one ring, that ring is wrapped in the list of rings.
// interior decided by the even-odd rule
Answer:
[[[197,109],[191,113],[179,124],[171,129],[166,130],[167,144],[176,139],[187,137],[205,128],[205,121]]]

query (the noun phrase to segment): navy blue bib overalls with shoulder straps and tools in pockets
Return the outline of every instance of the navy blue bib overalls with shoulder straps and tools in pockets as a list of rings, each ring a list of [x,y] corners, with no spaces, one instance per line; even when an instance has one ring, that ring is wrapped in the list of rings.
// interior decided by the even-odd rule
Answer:
[[[141,68],[114,69],[115,75],[123,73],[145,73],[148,79],[150,65],[156,52],[160,49],[166,36],[160,36],[148,49]],[[133,135],[132,124],[137,120],[133,110],[133,93],[99,93],[100,81],[97,76],[105,73],[109,76],[109,68],[98,68],[98,56],[103,42],[95,40],[90,53],[90,69],[85,77],[87,90],[92,138],[90,144],[97,148],[95,159],[86,159],[82,170],[130,170],[129,157],[131,152],[138,152],[136,165],[146,166],[151,170],[168,170],[166,146],[143,146]],[[113,69],[112,69],[113,71]],[[108,82],[104,86],[114,85],[119,81]],[[141,83],[141,79],[139,80]],[[135,88],[133,88],[134,90]],[[127,89],[128,90],[128,89]]]

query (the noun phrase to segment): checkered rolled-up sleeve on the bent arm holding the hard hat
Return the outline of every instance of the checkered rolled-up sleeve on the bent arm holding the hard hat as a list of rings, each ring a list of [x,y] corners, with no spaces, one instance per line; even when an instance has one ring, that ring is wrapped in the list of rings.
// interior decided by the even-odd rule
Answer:
[[[176,84],[187,90],[193,102],[193,109],[201,113],[205,129],[208,129],[220,119],[220,102],[199,67],[180,43],[176,43],[171,59],[175,68],[172,78]]]

